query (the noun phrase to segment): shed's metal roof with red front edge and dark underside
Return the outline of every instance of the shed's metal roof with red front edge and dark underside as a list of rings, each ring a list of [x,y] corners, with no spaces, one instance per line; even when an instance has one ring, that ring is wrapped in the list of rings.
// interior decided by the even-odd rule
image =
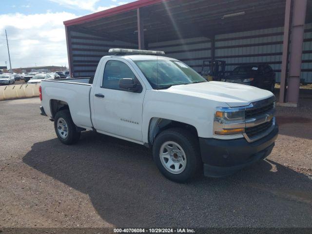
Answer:
[[[285,0],[140,0],[64,24],[105,39],[138,43],[137,9],[144,40],[152,43],[283,26]]]

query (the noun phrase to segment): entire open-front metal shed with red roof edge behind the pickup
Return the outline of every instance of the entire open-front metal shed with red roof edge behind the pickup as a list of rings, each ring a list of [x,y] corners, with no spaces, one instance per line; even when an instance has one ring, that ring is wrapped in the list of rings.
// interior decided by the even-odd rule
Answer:
[[[230,68],[261,60],[277,66],[274,71],[282,88],[286,77],[291,78],[291,96],[283,89],[280,102],[289,99],[296,104],[298,92],[293,90],[299,89],[300,71],[312,80],[308,64],[312,60],[312,26],[304,29],[305,23],[312,22],[311,8],[312,0],[137,0],[64,22],[70,71],[73,77],[94,74],[99,59],[112,47],[165,50],[169,57],[193,68],[201,66],[200,59],[241,61],[227,61]],[[299,32],[299,37],[293,36],[292,30]],[[309,35],[304,37],[304,33]],[[303,42],[309,44],[303,46]],[[294,44],[296,47],[290,48]],[[295,74],[289,75],[291,49],[300,53],[292,53],[295,57],[290,58],[290,67]],[[186,56],[181,57],[183,53]],[[307,68],[301,68],[298,60],[302,54],[308,58],[302,60]]]

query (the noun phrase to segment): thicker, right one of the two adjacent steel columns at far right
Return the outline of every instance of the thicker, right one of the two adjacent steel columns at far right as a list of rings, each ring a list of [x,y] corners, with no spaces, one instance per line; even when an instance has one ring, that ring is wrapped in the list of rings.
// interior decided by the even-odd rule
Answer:
[[[293,1],[287,101],[296,105],[299,101],[301,56],[306,11],[307,0]]]

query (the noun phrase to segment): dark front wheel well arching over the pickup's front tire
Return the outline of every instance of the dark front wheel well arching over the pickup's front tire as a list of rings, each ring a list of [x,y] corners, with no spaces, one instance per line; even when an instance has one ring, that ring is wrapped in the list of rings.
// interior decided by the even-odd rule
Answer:
[[[193,125],[182,123],[176,120],[166,119],[166,118],[152,118],[150,120],[149,131],[148,131],[148,144],[152,146],[155,138],[162,131],[169,128],[182,128],[191,132],[195,137],[198,137],[197,130]]]

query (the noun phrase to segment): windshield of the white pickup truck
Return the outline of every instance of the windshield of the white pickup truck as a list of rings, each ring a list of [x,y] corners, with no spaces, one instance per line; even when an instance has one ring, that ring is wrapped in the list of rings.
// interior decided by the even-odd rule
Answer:
[[[165,89],[178,84],[207,82],[192,68],[175,60],[137,60],[138,68],[153,89]]]

